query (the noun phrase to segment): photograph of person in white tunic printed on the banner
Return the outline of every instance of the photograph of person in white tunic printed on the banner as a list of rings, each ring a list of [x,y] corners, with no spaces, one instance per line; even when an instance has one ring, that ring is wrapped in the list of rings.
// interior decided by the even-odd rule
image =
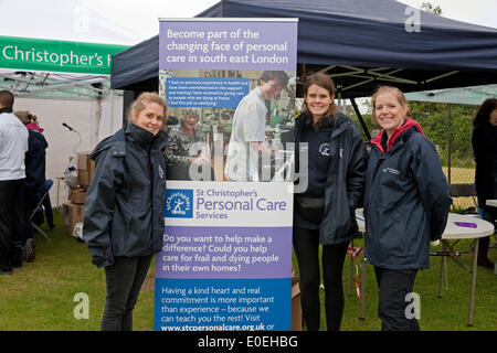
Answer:
[[[295,72],[162,69],[167,179],[289,181]]]

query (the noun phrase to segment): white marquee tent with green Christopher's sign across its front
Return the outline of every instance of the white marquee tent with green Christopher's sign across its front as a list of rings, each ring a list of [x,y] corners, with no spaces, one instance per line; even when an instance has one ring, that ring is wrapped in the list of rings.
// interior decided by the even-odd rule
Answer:
[[[141,39],[77,0],[2,0],[0,13],[0,89],[12,90],[14,110],[30,110],[44,128],[46,178],[54,180],[51,199],[55,206],[57,178],[63,176],[68,158],[93,149],[121,127],[123,92],[109,89],[109,66],[103,66],[120,46]],[[68,68],[67,61],[77,67]],[[95,69],[101,63],[102,71]],[[63,185],[60,203],[67,195]]]

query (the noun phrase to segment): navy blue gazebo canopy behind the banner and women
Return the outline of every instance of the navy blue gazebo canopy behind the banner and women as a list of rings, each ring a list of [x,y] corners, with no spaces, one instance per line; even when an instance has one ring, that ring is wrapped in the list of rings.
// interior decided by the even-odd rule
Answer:
[[[198,18],[298,18],[298,76],[324,71],[341,97],[497,83],[497,30],[393,0],[222,0]],[[112,87],[158,87],[159,36],[113,58]]]

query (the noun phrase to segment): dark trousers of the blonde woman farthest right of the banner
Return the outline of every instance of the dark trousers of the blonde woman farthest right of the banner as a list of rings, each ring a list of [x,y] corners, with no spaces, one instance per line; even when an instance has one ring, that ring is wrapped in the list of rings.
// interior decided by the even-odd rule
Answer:
[[[415,318],[408,306],[412,301],[405,296],[413,292],[416,269],[395,270],[374,267],[379,288],[378,317],[381,319],[382,331],[420,331]]]

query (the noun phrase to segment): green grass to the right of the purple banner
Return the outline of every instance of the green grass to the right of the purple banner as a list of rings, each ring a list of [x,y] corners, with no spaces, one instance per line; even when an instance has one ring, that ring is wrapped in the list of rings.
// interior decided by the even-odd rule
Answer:
[[[355,239],[353,246],[363,246],[363,239]],[[464,252],[458,257],[466,266],[470,266],[473,255],[467,253],[470,242],[463,239],[454,246],[454,250]],[[432,246],[431,250],[442,250],[442,245]],[[321,253],[320,253],[321,254]],[[491,259],[495,250],[489,252]],[[357,259],[362,265],[363,257]],[[320,263],[320,261],[319,261]],[[414,292],[421,299],[421,319],[417,321],[422,331],[495,331],[497,314],[493,309],[497,281],[494,271],[488,268],[477,268],[476,297],[473,327],[468,327],[469,289],[472,276],[451,258],[446,258],[446,271],[443,281],[442,298],[438,298],[441,257],[430,257],[430,269],[420,270],[415,278]],[[299,272],[294,255],[294,268]],[[362,286],[366,276],[366,288]],[[347,255],[343,265],[345,308],[341,331],[380,331],[381,321],[378,318],[378,285],[374,269],[366,265],[366,271],[359,269],[360,291],[364,296],[364,318],[359,319],[360,299],[356,295],[356,269],[351,267]],[[349,281],[350,280],[350,281]],[[321,303],[321,330],[326,330],[325,290],[319,291]],[[305,328],[304,328],[305,329]]]

